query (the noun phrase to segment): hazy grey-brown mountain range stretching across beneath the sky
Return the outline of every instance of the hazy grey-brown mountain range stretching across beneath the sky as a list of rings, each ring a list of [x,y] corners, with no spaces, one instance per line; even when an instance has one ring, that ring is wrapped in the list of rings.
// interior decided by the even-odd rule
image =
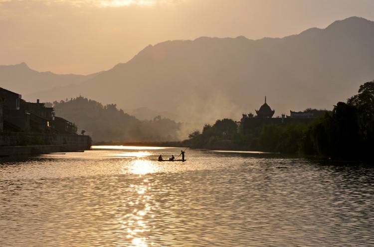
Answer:
[[[26,99],[81,94],[129,112],[137,109],[142,118],[154,111],[182,121],[239,119],[242,112],[254,113],[265,95],[275,115],[331,109],[374,79],[374,22],[350,17],[284,38],[165,41],[88,76],[29,71],[25,64],[10,68],[0,68],[1,87],[9,85]]]

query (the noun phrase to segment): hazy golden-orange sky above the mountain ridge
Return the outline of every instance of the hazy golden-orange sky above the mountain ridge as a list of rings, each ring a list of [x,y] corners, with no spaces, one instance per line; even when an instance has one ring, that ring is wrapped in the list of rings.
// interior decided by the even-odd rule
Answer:
[[[0,64],[87,74],[165,40],[283,37],[353,15],[374,20],[374,0],[0,0]]]

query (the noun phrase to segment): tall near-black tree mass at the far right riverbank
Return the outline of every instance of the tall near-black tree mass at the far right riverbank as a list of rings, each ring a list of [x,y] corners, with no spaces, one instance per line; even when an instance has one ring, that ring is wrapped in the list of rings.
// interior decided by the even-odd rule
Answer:
[[[360,86],[347,103],[311,126],[309,137],[315,151],[329,157],[370,159],[374,146],[374,81]]]

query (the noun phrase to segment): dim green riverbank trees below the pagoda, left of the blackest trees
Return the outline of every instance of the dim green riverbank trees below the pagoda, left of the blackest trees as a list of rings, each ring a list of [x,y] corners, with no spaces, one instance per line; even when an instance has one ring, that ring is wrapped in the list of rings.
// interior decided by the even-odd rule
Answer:
[[[222,119],[205,124],[201,133],[196,130],[189,135],[187,143],[194,148],[297,153],[306,128],[304,123],[259,124],[244,133],[241,122]]]

